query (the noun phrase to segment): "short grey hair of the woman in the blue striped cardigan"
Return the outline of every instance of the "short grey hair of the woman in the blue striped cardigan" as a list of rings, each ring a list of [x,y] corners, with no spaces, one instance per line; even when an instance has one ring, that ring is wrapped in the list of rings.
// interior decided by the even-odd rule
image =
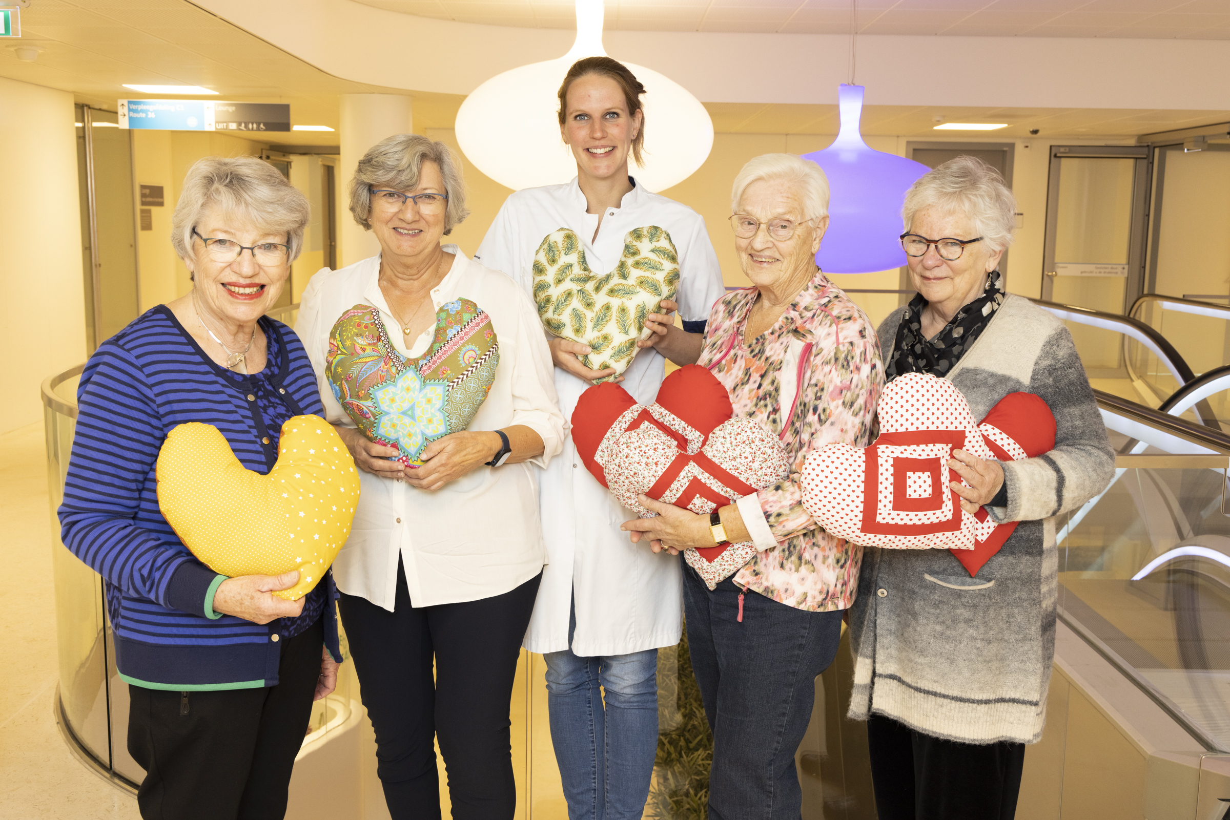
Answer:
[[[287,261],[299,258],[311,205],[268,162],[255,156],[207,156],[192,164],[171,216],[171,245],[181,259],[192,256],[192,231],[213,205],[261,232],[285,234],[290,247]]]

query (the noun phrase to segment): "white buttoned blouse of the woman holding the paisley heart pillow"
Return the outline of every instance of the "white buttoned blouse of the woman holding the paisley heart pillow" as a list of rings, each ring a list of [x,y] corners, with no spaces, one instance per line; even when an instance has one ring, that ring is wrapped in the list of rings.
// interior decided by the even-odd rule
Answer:
[[[469,299],[491,316],[499,341],[496,381],[470,429],[524,424],[541,436],[544,452],[522,463],[481,466],[435,492],[360,471],[359,507],[351,537],[333,562],[333,577],[343,593],[389,611],[399,557],[416,607],[491,597],[538,575],[546,548],[531,465],[546,467],[567,435],[552,384],[551,352],[529,296],[504,274],[466,258],[455,245],[444,250],[454,261],[432,290],[435,310]],[[362,304],[378,307],[385,325],[397,326],[380,291],[379,274],[380,257],[374,256],[341,270],[319,272],[304,293],[295,332],[316,369],[325,417],[332,424],[355,427],[325,377],[335,322]],[[389,338],[402,355],[419,355],[434,332],[433,323],[408,350],[401,333]]]

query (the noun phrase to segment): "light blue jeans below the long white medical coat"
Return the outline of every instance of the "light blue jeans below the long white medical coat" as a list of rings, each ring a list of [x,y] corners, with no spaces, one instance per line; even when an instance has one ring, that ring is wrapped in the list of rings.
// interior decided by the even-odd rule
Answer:
[[[569,645],[576,628],[573,612]],[[569,820],[640,820],[658,751],[658,650],[581,658],[565,649],[544,658]]]

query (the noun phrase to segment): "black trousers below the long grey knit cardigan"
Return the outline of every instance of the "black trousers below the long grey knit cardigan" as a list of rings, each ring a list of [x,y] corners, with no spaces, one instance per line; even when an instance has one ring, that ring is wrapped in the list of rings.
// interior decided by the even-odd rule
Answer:
[[[879,714],[867,720],[879,820],[1012,820],[1023,743],[974,745],[915,731]]]

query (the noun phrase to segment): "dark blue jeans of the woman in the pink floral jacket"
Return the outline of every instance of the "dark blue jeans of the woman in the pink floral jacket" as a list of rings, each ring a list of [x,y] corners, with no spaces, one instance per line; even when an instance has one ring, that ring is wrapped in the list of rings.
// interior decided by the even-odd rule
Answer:
[[[680,559],[683,556],[680,556]],[[815,676],[841,638],[841,611],[807,612],[740,589],[710,591],[684,564],[688,652],[713,731],[710,820],[798,820],[795,752],[815,702]]]

